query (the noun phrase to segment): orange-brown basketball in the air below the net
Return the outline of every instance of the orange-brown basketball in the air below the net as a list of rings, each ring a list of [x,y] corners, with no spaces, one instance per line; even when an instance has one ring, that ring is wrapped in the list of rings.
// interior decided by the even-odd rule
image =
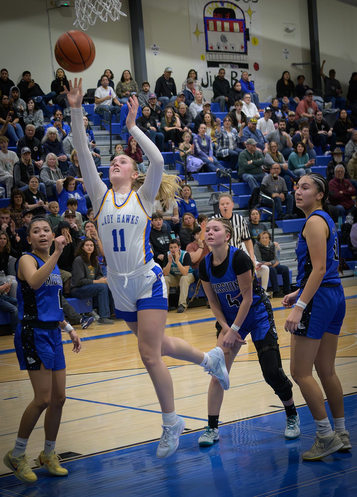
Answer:
[[[80,73],[93,64],[95,46],[82,31],[63,33],[55,45],[55,57],[59,65],[71,73]]]

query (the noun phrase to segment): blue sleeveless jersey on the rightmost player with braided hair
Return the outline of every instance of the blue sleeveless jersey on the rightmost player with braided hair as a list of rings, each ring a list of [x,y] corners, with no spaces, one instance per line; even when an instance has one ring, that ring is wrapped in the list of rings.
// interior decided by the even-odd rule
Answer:
[[[307,219],[310,219],[311,216],[322,217],[326,221],[327,226],[329,227],[329,236],[326,240],[326,273],[321,281],[321,285],[323,284],[337,285],[341,283],[341,279],[339,276],[339,269],[338,269],[340,263],[339,241],[338,241],[335,223],[331,219],[330,215],[323,210],[317,210],[312,212]],[[296,248],[295,248],[295,253],[297,257],[296,285],[300,288],[303,288],[306,285],[306,282],[312,271],[312,263],[311,263],[309,249],[307,247],[306,240],[302,235],[306,221],[298,235]]]

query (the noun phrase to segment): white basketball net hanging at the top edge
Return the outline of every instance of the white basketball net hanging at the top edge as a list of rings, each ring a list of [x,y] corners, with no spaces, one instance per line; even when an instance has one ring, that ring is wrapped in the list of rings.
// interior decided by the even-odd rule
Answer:
[[[77,19],[73,24],[85,31],[89,25],[95,24],[97,17],[102,22],[107,22],[109,15],[113,21],[117,21],[121,15],[127,16],[121,12],[121,6],[122,2],[119,0],[75,0],[74,10]]]

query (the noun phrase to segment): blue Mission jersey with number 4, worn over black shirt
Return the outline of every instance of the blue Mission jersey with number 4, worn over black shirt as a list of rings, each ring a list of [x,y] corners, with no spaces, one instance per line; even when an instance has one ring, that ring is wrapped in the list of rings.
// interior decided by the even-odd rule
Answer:
[[[235,318],[237,317],[237,313],[239,310],[239,306],[243,300],[242,295],[239,295],[241,292],[241,289],[239,288],[238,281],[237,281],[237,275],[235,274],[235,271],[233,270],[232,267],[232,259],[233,259],[233,254],[236,250],[240,250],[239,248],[236,247],[229,247],[229,262],[228,262],[228,267],[225,272],[225,274],[217,278],[214,276],[212,273],[212,259],[213,259],[213,253],[209,253],[205,257],[205,262],[206,262],[206,271],[207,271],[207,276],[210,280],[210,283],[212,284],[212,288],[219,300],[220,306],[222,308],[223,316],[229,326],[232,325],[234,322]],[[248,257],[248,255],[247,255]],[[252,265],[253,268],[253,265]],[[238,297],[239,295],[239,297]],[[259,302],[262,302],[262,299],[264,298],[264,290],[263,288],[259,285],[257,278],[254,278],[253,280],[253,302],[250,308],[250,311],[245,318],[242,328],[248,329],[250,328],[249,322],[252,320],[252,313],[254,315],[256,311],[256,305]]]

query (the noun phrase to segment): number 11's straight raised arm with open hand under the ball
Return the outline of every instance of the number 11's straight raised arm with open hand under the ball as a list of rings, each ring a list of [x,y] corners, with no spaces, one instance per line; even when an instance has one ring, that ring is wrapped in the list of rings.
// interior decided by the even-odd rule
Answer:
[[[77,83],[77,78],[74,79],[74,85],[70,81],[70,90],[64,86],[67,94],[67,99],[71,105],[71,120],[74,145],[78,154],[78,162],[85,188],[92,202],[102,197],[107,191],[107,187],[97,174],[91,153],[87,145],[87,135],[83,124],[82,112],[82,79]]]

